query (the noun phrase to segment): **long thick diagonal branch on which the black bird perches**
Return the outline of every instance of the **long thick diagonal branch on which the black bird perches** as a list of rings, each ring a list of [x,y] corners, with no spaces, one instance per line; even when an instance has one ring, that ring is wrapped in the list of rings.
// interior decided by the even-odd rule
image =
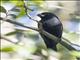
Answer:
[[[12,23],[12,24],[16,24],[16,25],[19,25],[19,26],[22,26],[22,27],[25,27],[25,28],[29,28],[29,29],[38,31],[39,33],[41,33],[41,34],[49,37],[50,39],[54,40],[55,42],[59,42],[61,45],[63,45],[64,47],[66,47],[66,48],[69,49],[69,50],[80,51],[80,50],[72,47],[72,45],[71,45],[70,43],[67,43],[67,42],[65,42],[64,40],[61,40],[61,41],[60,41],[60,38],[58,38],[58,37],[56,37],[56,36],[54,36],[54,35],[46,32],[46,31],[44,31],[42,28],[36,29],[36,28],[33,28],[33,27],[25,26],[25,25],[23,25],[23,24],[21,24],[21,23],[19,23],[19,22],[13,21],[13,20],[9,20],[9,19],[6,19],[6,20],[5,20],[4,18],[1,18],[1,17],[0,17],[0,19],[3,20],[3,21],[6,21],[6,22]]]

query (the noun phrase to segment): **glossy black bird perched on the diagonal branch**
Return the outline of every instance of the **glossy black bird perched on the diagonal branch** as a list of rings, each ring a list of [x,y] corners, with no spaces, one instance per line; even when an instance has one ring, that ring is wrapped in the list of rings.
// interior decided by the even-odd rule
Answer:
[[[42,27],[45,31],[47,31],[48,33],[58,38],[61,38],[63,26],[59,18],[55,14],[50,13],[50,12],[43,12],[43,13],[38,14],[37,16],[41,18],[40,22],[42,23]],[[38,28],[40,28],[39,24],[38,24]],[[56,45],[58,42],[51,40],[50,38],[48,38],[47,36],[44,36],[41,33],[40,35],[43,38],[47,48],[57,51]]]

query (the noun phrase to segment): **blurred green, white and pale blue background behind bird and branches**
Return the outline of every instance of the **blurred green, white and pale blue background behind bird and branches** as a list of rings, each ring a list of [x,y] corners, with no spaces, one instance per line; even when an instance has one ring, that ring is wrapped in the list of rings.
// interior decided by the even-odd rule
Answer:
[[[25,1],[30,16],[36,20],[36,15],[49,11],[56,14],[63,24],[63,37],[71,43],[80,45],[80,1]],[[37,23],[25,15],[23,1],[1,0],[0,15],[20,22],[26,26],[36,27]],[[16,9],[15,9],[16,8]],[[80,51],[69,51],[61,44],[57,45],[58,52],[47,49],[38,32],[26,29],[8,22],[1,21],[1,35],[9,38],[11,43],[1,39],[1,60],[77,60]],[[80,50],[80,47],[76,49]]]

